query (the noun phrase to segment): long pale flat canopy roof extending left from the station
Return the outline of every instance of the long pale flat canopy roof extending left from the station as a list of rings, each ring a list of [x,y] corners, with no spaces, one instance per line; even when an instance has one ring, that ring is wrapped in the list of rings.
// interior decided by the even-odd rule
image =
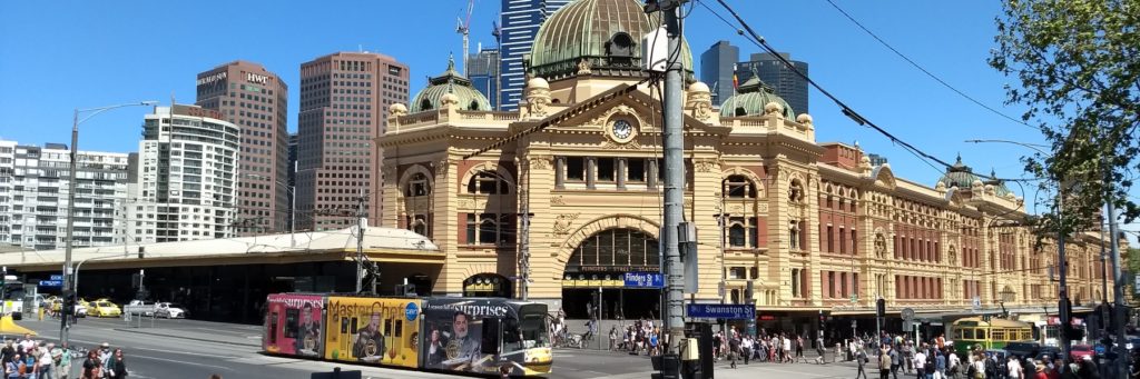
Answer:
[[[364,252],[381,262],[442,262],[443,253],[427,237],[409,230],[366,226]],[[128,244],[72,249],[72,262],[92,261],[84,267],[178,266],[225,263],[288,263],[343,259],[356,253],[357,228],[223,239],[157,244]],[[139,253],[142,258],[139,258]],[[26,271],[58,271],[65,249],[0,254],[0,265]],[[438,258],[435,258],[438,256]],[[96,261],[97,259],[97,261]],[[117,263],[117,264],[115,264]]]

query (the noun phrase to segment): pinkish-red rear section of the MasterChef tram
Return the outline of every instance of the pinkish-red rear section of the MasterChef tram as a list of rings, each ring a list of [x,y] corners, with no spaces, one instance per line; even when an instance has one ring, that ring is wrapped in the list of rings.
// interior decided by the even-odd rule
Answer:
[[[319,295],[269,295],[266,314],[266,352],[298,356],[320,356],[321,311]]]

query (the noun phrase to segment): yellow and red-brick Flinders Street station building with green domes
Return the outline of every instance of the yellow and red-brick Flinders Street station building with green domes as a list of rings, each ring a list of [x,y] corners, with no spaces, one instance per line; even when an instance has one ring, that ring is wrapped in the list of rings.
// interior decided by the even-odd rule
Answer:
[[[638,1],[576,1],[540,27],[518,112],[494,112],[442,58],[410,104],[390,106],[380,223],[446,255],[420,267],[431,293],[527,291],[571,319],[588,305],[606,320],[660,316],[658,289],[622,280],[661,264],[661,89],[640,68],[657,25]],[[959,157],[937,182],[897,178],[858,146],[817,141],[834,126],[755,77],[714,106],[687,46],[679,59],[697,302],[751,302],[762,327],[798,331],[871,320],[878,298],[919,319],[1056,314],[1056,245],[1034,246],[1017,225],[1024,199],[994,175]],[[1104,295],[1099,250],[1092,233],[1067,245],[1078,313]]]

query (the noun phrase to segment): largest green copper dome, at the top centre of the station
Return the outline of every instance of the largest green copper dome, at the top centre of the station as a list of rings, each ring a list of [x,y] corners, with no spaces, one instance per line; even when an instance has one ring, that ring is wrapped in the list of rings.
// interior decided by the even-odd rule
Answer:
[[[577,0],[562,7],[538,28],[528,72],[547,80],[573,76],[584,66],[593,75],[644,75],[642,36],[661,23],[659,14],[646,15],[642,6],[637,0]],[[693,57],[684,40],[681,64],[691,76]]]

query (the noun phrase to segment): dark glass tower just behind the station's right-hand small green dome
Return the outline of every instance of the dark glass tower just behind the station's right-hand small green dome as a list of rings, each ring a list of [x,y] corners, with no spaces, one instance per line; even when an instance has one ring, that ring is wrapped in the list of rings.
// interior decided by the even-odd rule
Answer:
[[[792,66],[804,75],[811,75],[807,72],[806,61],[791,60],[791,55],[787,52],[781,52],[780,56],[791,61]],[[736,77],[741,83],[751,79],[752,73],[759,75],[764,84],[771,86],[777,96],[787,100],[797,115],[811,113],[807,109],[807,80],[796,75],[775,56],[767,52],[754,53],[748,61],[741,61],[736,65]]]

